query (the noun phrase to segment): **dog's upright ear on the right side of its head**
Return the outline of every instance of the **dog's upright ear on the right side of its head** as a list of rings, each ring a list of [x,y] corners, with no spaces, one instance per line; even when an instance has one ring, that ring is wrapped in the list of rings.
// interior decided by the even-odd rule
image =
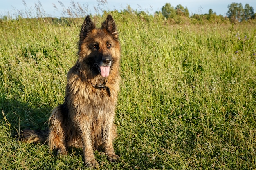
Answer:
[[[114,19],[112,16],[109,14],[106,18],[106,20],[101,24],[101,29],[106,29],[108,33],[115,38],[115,40],[118,39],[118,31],[117,31],[117,26],[115,24]]]

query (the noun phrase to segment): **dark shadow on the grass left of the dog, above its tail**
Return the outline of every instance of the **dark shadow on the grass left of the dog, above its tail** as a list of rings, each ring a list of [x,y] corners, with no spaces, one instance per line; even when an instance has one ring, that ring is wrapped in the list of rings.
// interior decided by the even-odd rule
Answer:
[[[46,130],[53,109],[49,104],[31,104],[5,96],[0,99],[0,108],[0,123],[10,124],[12,136],[22,129]]]

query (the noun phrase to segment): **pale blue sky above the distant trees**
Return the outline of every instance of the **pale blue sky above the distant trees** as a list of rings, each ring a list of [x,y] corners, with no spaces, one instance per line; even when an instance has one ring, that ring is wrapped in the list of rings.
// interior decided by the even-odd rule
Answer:
[[[106,11],[115,9],[120,11],[122,9],[126,9],[126,7],[130,5],[134,10],[145,11],[149,14],[153,14],[155,11],[161,11],[164,4],[170,3],[173,7],[176,7],[178,4],[181,4],[183,7],[187,7],[190,15],[205,14],[208,13],[209,9],[213,9],[213,12],[217,15],[226,16],[228,11],[227,6],[235,2],[242,3],[243,7],[245,4],[249,4],[254,8],[254,13],[256,13],[256,0],[0,0],[0,17],[4,15],[17,17],[17,11],[20,11],[21,13],[22,11],[32,11],[35,17],[35,7],[39,4],[41,4],[41,9],[45,11],[47,16],[61,17],[63,16],[61,12],[63,10],[63,6],[59,2],[61,2],[65,8],[68,8],[72,6],[72,1],[75,4],[79,3],[82,7],[87,8],[88,13],[86,13],[86,15],[94,15],[97,13],[97,11],[95,11],[95,7],[98,8],[99,1],[107,2],[100,6],[101,9]]]

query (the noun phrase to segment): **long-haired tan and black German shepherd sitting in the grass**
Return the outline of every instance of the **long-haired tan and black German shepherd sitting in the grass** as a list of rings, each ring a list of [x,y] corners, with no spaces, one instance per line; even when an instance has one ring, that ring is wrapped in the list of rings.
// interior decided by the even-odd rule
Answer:
[[[57,154],[67,147],[83,148],[84,164],[97,167],[93,150],[103,150],[110,161],[119,161],[113,139],[115,106],[119,91],[121,47],[111,15],[96,28],[90,16],[83,22],[78,59],[67,73],[65,101],[49,118],[49,132],[24,130],[22,140],[47,141]],[[47,136],[47,137],[45,137]]]

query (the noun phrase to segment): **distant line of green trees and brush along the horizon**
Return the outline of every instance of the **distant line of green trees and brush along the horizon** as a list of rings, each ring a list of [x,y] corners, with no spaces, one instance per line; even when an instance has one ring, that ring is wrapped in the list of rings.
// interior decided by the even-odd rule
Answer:
[[[74,6],[72,6],[74,7]],[[72,9],[72,7],[68,7],[67,9],[63,9],[63,17],[47,17],[40,13],[42,11],[40,8],[36,7],[36,14],[39,15],[33,16],[31,11],[25,11],[27,17],[24,17],[21,12],[18,11],[18,17],[16,20],[42,20],[43,22],[52,23],[56,26],[67,25],[71,26],[76,24],[77,18],[83,18],[84,15],[88,15],[85,11],[80,11],[79,9]],[[150,15],[144,11],[133,10],[130,5],[126,7],[126,9],[122,9],[121,11],[105,11],[102,9],[103,14],[98,14],[94,16],[107,15],[107,13],[117,13],[121,15],[137,15],[142,20],[149,21],[153,17],[157,17],[159,20],[165,20],[170,24],[205,24],[205,23],[216,23],[216,24],[227,24],[227,23],[236,23],[236,22],[249,22],[256,24],[256,13],[254,13],[254,9],[249,4],[243,5],[241,3],[231,3],[227,6],[228,11],[226,16],[217,15],[213,9],[209,9],[206,14],[190,14],[189,9],[187,7],[183,7],[181,4],[173,7],[170,3],[164,4],[161,11],[155,11],[154,15]],[[21,15],[20,15],[21,14]],[[91,14],[90,14],[91,15]],[[28,17],[29,16],[29,17]],[[0,17],[0,26],[4,25],[4,21],[10,19],[8,16]]]

